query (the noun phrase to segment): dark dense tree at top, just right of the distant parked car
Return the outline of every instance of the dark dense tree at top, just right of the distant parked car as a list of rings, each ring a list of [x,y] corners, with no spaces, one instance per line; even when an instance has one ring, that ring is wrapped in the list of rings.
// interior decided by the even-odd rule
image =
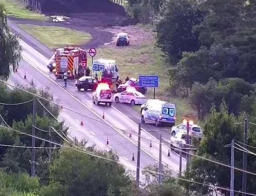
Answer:
[[[182,52],[194,52],[199,49],[198,33],[193,33],[192,28],[202,19],[203,13],[198,10],[196,1],[164,2],[154,25],[157,45],[170,60],[177,62]]]

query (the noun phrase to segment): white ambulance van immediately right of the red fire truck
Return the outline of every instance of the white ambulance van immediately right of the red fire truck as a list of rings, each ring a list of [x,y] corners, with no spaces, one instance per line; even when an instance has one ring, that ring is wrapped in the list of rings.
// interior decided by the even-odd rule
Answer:
[[[110,79],[111,82],[119,80],[119,69],[116,65],[115,60],[97,59],[93,60],[92,72],[97,73],[101,70],[102,79]]]

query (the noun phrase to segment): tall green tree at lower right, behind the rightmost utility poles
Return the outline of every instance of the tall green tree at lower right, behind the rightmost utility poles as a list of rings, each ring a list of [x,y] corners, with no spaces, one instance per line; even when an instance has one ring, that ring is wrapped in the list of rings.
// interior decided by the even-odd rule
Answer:
[[[198,147],[197,155],[208,158],[217,163],[230,165],[230,148],[224,146],[230,144],[231,140],[243,141],[243,127],[236,125],[236,122],[243,121],[245,116],[235,117],[229,114],[225,102],[221,105],[220,112],[213,107],[211,113],[206,117],[204,125],[204,137]],[[249,136],[249,145],[255,139],[255,127],[250,127],[251,136]],[[255,140],[254,140],[255,141]],[[248,170],[255,172],[254,155],[248,154]],[[242,168],[242,151],[235,150],[235,167]],[[235,190],[241,190],[241,171],[235,169]],[[185,178],[192,181],[215,185],[227,188],[230,183],[230,169],[228,167],[203,160],[199,157],[192,157],[188,171],[185,172]],[[250,175],[250,181],[247,182],[247,191],[255,192],[253,180],[255,176]],[[201,194],[210,193],[212,187],[181,181],[180,183],[190,191],[196,191]],[[220,190],[223,192],[223,190]]]

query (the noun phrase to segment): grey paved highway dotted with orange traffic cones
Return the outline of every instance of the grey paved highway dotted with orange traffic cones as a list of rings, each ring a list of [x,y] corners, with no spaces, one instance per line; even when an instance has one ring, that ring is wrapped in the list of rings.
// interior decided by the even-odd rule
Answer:
[[[119,112],[115,107],[93,105],[91,101],[91,93],[77,91],[74,82],[70,81],[65,90],[63,88],[63,81],[54,81],[54,77],[48,73],[46,68],[48,59],[23,41],[21,41],[21,46],[23,48],[22,56],[25,60],[22,60],[18,73],[14,73],[10,78],[10,82],[28,83],[33,78],[34,83],[38,88],[49,87],[49,91],[53,93],[55,98],[58,97],[63,102],[64,106],[72,108],[80,113],[70,112],[65,109],[60,115],[61,119],[65,119],[65,124],[71,127],[69,129],[71,136],[77,137],[78,139],[86,138],[90,142],[95,142],[101,149],[106,149],[105,144],[108,137],[109,147],[107,147],[107,149],[112,149],[120,156],[121,163],[126,167],[135,170],[136,162],[130,160],[133,152],[135,153],[135,157],[137,155],[137,136],[135,134],[138,133],[138,125]],[[23,79],[25,72],[27,80]],[[105,123],[111,124],[112,126],[99,122],[103,121],[101,119],[103,112],[106,117]],[[99,121],[86,118],[81,114],[90,116]],[[79,125],[81,118],[84,120],[84,126]],[[131,138],[129,138],[130,130],[134,133]],[[156,133],[155,136],[158,137],[158,134],[159,133]],[[155,139],[152,134],[149,134],[144,130],[142,130],[141,136],[141,146],[143,150],[141,152],[141,167],[157,163],[159,140]],[[149,148],[150,140],[152,140],[153,148]],[[167,157],[167,152],[167,146],[163,146],[163,163],[177,171],[179,167],[179,157],[172,152],[171,156]],[[183,160],[182,167],[185,168],[185,165],[186,162]]]

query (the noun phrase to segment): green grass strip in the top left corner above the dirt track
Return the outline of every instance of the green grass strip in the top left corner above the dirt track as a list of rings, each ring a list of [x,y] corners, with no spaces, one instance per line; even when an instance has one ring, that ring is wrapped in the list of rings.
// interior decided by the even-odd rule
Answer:
[[[20,3],[20,1],[1,0],[1,3],[3,3],[6,7],[7,16],[40,21],[49,20],[49,18],[45,15],[29,11],[28,9],[26,9],[25,5]]]

